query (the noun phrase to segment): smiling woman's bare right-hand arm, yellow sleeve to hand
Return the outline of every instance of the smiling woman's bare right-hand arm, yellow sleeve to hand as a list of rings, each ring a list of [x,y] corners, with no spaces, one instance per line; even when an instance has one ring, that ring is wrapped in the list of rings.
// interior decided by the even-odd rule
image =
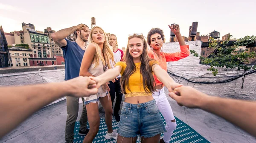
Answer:
[[[170,77],[169,74],[164,69],[162,69],[158,64],[154,64],[152,66],[152,71],[157,76],[157,78],[167,87],[169,92],[172,92],[172,90],[176,87],[182,86],[179,83],[175,83],[172,77]]]

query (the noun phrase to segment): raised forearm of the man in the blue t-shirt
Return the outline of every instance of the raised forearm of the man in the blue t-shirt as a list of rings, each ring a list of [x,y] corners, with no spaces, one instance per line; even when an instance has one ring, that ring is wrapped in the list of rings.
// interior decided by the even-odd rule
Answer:
[[[52,34],[52,39],[54,41],[63,40],[64,38],[68,37],[71,33],[73,33],[76,29],[77,29],[77,26],[72,26],[67,29],[61,29]]]

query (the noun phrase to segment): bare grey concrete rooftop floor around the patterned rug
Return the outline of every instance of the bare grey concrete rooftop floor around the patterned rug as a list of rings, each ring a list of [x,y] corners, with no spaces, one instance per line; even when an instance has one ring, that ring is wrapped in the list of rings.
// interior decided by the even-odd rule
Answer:
[[[221,117],[201,109],[180,107],[167,97],[174,115],[211,143],[256,143],[256,138]],[[82,103],[79,103],[79,121]],[[100,117],[105,117],[99,106]],[[0,143],[64,143],[66,100],[44,107],[0,140]]]

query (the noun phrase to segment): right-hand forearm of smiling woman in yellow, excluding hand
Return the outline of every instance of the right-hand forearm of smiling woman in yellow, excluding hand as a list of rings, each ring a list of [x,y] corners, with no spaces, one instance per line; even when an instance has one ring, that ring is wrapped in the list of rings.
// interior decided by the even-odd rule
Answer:
[[[155,69],[154,74],[168,89],[171,87],[173,83],[175,83],[172,77],[170,77],[169,74],[161,68]]]

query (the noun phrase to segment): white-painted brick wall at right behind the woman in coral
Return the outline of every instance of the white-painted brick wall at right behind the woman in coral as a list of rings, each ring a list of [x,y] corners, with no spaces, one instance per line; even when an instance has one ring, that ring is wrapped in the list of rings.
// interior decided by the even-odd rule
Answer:
[[[201,53],[201,41],[186,42],[189,45],[190,50],[195,50],[199,54]],[[179,43],[164,43],[164,52],[177,52],[180,51]],[[176,62],[168,63],[168,70],[182,77],[214,77],[214,78],[200,78],[192,79],[198,81],[221,81],[229,79],[230,77],[243,74],[243,71],[238,72],[237,69],[221,69],[218,68],[219,73],[217,76],[213,76],[211,72],[207,71],[207,66],[199,64],[199,57],[194,57],[192,54],[185,59],[181,59]],[[225,78],[224,78],[225,77]],[[173,77],[176,80],[175,77]],[[195,84],[189,83],[185,80],[178,78],[183,85],[194,86],[195,89],[219,97],[232,97],[246,100],[256,100],[256,73],[245,76],[243,90],[241,90],[242,77],[229,83],[220,84]]]

